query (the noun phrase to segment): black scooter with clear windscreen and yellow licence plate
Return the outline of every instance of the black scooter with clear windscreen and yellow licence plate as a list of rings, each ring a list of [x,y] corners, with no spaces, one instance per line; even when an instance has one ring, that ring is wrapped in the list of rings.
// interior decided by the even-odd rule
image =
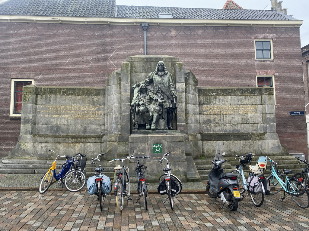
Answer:
[[[234,173],[223,173],[221,165],[226,161],[222,159],[225,152],[222,152],[220,160],[220,153],[218,153],[217,160],[218,146],[214,160],[212,161],[213,167],[208,174],[209,181],[207,182],[206,192],[210,197],[219,197],[223,201],[220,209],[223,209],[224,204],[227,204],[231,211],[236,211],[238,201],[242,201],[244,196],[238,191],[237,175]]]

